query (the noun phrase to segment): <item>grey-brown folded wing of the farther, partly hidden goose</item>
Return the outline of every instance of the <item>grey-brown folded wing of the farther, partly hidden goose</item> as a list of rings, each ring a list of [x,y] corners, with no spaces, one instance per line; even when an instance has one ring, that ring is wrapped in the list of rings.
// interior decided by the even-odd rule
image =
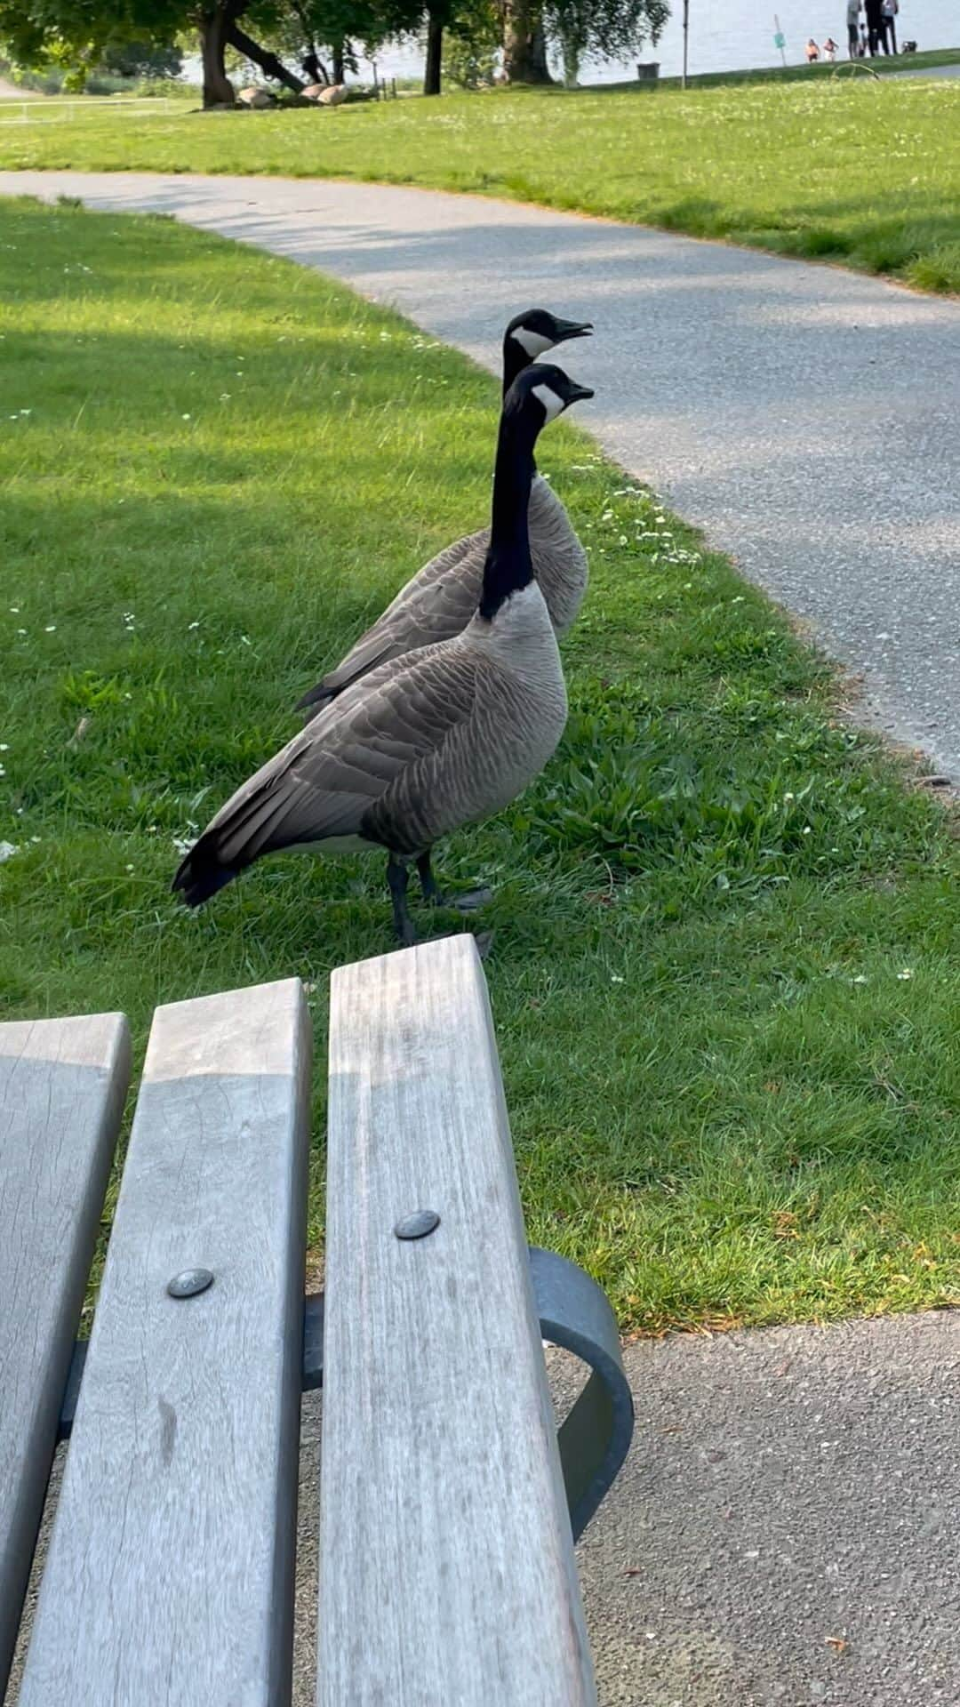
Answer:
[[[304,693],[297,710],[314,717],[314,707],[323,708],[379,664],[461,633],[480,603],[489,541],[490,531],[483,527],[424,563],[337,669]]]

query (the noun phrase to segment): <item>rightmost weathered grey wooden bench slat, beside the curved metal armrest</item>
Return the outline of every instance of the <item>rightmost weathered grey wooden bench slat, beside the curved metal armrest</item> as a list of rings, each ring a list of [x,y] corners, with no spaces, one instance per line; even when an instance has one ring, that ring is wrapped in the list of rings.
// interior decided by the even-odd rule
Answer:
[[[594,1702],[470,935],[333,973],[326,1236],[318,1707]]]

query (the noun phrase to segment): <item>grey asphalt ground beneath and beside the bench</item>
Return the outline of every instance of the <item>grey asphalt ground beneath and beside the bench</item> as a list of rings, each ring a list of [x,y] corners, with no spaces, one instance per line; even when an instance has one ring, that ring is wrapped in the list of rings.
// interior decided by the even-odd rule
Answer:
[[[577,1548],[600,1707],[955,1707],[960,1313],[625,1362],[634,1446]],[[548,1364],[562,1410],[579,1364]],[[314,1702],[319,1424],[307,1395],[294,1707]]]

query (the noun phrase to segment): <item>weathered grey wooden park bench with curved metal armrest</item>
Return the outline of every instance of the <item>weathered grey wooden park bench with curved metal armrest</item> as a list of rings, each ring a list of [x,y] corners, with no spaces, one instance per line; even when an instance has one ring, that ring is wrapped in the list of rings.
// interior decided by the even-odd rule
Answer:
[[[323,1371],[318,1707],[593,1702],[574,1536],[632,1407],[606,1299],[528,1251],[468,935],[331,980],[326,1308],[304,1308],[301,983],[157,1009],[89,1342],[121,1014],[0,1026],[0,1697],[290,1698],[301,1393]],[[557,1436],[541,1340],[589,1379]]]

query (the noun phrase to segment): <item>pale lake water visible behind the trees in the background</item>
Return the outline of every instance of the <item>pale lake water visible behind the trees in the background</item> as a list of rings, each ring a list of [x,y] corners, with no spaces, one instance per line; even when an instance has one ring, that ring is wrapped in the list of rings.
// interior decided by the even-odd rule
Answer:
[[[729,72],[748,65],[779,65],[774,46],[774,14],[786,36],[787,63],[803,61],[806,38],[840,43],[846,55],[846,0],[774,0],[770,7],[757,0],[690,0],[690,72]],[[639,58],[659,60],[661,77],[680,73],[683,60],[683,7],[673,0],[670,19],[658,48],[649,44]],[[919,48],[960,46],[958,0],[900,0],[897,36]],[[395,48],[378,58],[388,77],[410,77],[422,70],[417,50]],[[364,70],[364,68],[362,68]],[[584,65],[582,82],[617,82],[634,75],[634,65]]]

